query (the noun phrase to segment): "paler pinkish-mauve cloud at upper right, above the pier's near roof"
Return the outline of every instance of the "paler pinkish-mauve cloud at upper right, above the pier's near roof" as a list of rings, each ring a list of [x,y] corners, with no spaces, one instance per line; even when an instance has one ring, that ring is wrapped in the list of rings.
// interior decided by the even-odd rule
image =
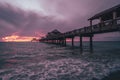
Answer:
[[[119,4],[120,0],[40,0],[40,3],[49,15],[62,17],[70,26],[80,28],[89,25],[88,18]]]

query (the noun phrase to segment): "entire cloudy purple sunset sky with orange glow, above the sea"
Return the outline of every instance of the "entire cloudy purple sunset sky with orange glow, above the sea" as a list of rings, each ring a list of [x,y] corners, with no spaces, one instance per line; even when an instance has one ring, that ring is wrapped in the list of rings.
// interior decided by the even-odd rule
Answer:
[[[89,25],[88,18],[118,4],[120,0],[0,0],[0,41],[40,38],[54,29],[79,29]],[[120,41],[120,32],[94,39]]]

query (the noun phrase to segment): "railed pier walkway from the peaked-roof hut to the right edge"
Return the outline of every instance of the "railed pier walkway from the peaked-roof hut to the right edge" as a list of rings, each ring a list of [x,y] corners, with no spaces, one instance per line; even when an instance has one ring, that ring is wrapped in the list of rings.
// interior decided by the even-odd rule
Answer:
[[[120,18],[98,23],[92,26],[76,29],[64,33],[65,37],[80,36],[84,34],[97,34],[118,31],[120,28]]]

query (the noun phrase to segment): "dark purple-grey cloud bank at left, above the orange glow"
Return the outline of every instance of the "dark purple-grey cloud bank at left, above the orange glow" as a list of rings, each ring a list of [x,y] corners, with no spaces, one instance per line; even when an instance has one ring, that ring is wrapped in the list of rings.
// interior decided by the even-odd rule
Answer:
[[[46,16],[34,11],[24,11],[10,4],[0,5],[0,37],[18,33],[19,35],[36,36],[35,32],[45,33],[54,28],[60,29],[64,21],[55,16]],[[63,27],[64,28],[64,27]]]

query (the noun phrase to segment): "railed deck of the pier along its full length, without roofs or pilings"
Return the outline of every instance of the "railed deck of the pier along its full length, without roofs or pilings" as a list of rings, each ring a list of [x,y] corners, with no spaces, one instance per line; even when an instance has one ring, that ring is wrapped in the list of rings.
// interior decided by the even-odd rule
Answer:
[[[106,33],[106,32],[114,32],[120,30],[120,18],[104,21],[102,23],[98,23],[92,26],[83,27],[80,29],[75,29],[72,31],[68,31],[65,33],[61,33],[60,35],[51,35],[50,37],[44,38],[42,40],[57,40],[57,39],[64,39],[64,38],[72,38],[75,36],[84,36],[90,34],[99,34],[99,33]]]

